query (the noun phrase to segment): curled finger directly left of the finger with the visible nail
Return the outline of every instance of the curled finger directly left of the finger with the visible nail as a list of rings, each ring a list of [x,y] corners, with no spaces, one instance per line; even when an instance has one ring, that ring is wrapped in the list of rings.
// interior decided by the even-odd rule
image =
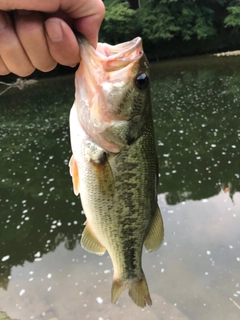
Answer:
[[[53,70],[57,63],[48,50],[42,14],[31,11],[17,11],[15,28],[32,65],[44,72]]]

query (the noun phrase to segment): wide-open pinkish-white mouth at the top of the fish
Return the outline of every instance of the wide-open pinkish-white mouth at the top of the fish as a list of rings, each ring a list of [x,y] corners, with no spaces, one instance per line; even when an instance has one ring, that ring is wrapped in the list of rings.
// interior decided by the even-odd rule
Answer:
[[[125,68],[132,62],[139,60],[143,55],[142,39],[140,37],[117,45],[98,43],[96,49],[83,36],[78,36],[78,43],[82,61],[94,68],[101,66],[102,71],[105,72]]]

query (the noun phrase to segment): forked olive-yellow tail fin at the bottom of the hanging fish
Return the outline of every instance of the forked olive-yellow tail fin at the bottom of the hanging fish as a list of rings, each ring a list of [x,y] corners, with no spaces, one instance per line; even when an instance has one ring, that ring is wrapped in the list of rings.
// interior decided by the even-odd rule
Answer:
[[[146,303],[151,306],[152,300],[148,291],[148,285],[143,275],[141,279],[135,279],[124,283],[121,280],[113,280],[112,284],[112,303],[116,303],[122,291],[129,288],[129,296],[137,306],[144,308]]]

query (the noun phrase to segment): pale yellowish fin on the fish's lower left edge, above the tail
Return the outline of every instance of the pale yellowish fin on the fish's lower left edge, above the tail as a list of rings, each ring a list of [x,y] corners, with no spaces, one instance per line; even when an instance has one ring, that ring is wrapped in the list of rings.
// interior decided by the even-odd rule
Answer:
[[[83,230],[81,246],[85,250],[99,255],[103,255],[106,251],[106,248],[98,241],[89,224]]]

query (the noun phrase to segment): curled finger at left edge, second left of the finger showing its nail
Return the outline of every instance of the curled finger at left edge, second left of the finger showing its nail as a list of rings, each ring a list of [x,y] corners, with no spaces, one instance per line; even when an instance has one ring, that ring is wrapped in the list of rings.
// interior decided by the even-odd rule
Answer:
[[[0,11],[0,56],[10,72],[25,77],[34,71],[7,13]]]

